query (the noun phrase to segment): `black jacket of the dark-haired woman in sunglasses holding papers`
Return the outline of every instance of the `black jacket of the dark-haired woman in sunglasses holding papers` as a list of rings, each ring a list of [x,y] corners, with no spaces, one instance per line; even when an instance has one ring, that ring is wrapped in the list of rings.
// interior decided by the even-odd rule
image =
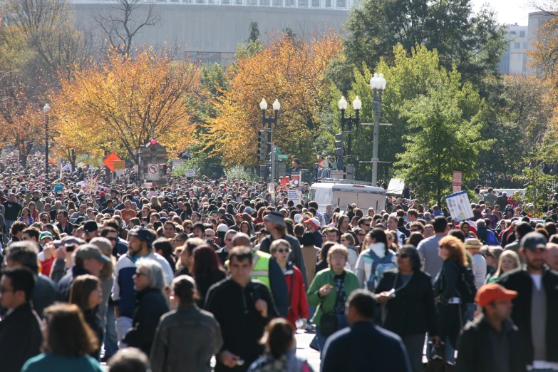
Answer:
[[[436,327],[436,308],[430,275],[425,272],[415,272],[406,286],[401,277],[396,275],[398,269],[387,270],[376,286],[376,293],[398,289],[396,296],[386,302],[388,315],[383,328],[399,336],[409,334],[438,335]],[[395,286],[394,286],[395,284]],[[401,289],[400,289],[401,288]]]

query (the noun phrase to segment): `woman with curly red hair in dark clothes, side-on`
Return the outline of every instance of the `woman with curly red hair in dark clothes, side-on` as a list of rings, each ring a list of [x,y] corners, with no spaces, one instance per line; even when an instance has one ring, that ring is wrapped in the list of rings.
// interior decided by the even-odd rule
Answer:
[[[460,291],[461,274],[467,269],[467,254],[460,239],[447,236],[438,243],[438,256],[443,259],[442,269],[434,281],[438,336],[442,342],[448,340],[455,349],[468,303],[468,299],[461,301],[463,292]]]

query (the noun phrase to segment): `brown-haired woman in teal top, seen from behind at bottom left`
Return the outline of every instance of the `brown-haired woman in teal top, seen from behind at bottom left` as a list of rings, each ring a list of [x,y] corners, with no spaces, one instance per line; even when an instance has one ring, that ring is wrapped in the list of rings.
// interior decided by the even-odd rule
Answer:
[[[99,341],[77,305],[54,304],[44,311],[44,353],[30,358],[21,372],[103,372],[89,356]]]

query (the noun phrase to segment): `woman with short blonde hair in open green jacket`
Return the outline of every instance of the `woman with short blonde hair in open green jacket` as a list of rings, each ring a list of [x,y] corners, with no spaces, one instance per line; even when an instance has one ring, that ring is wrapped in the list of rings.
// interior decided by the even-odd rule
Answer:
[[[351,292],[360,288],[356,275],[345,269],[347,258],[346,247],[331,247],[327,254],[329,269],[316,274],[307,293],[308,303],[316,306],[312,323],[316,324],[320,351],[331,334],[348,326],[345,303]]]

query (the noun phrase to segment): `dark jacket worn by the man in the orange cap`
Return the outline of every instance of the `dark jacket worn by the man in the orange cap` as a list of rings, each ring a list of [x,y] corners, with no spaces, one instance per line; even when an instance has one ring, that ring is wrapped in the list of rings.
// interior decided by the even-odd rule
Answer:
[[[495,353],[490,342],[490,324],[482,315],[467,323],[459,339],[459,356],[455,372],[495,371]],[[522,347],[520,331],[511,321],[502,324],[510,350],[510,372],[525,372],[525,348]]]

